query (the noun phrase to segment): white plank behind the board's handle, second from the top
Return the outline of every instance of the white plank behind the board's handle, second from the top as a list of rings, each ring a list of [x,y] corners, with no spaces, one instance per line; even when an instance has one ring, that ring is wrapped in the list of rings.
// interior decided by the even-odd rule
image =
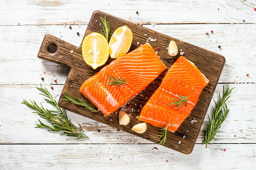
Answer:
[[[256,39],[251,36],[256,34],[256,25],[202,24],[144,27],[223,55],[226,58],[226,64],[219,83],[256,82],[256,72],[254,71]],[[42,40],[46,33],[56,37],[62,35],[61,39],[64,41],[79,46],[86,28],[87,26],[81,26],[81,28],[72,26],[72,30],[70,30],[63,26],[0,26],[0,37],[2,37],[0,44],[3,49],[0,56],[0,71],[2,73],[0,84],[40,84],[42,82],[40,74],[43,72],[46,72],[44,78],[47,79],[44,83],[47,84],[48,80],[52,78],[49,74],[55,72],[58,83],[64,84],[69,68],[38,59],[36,55],[41,45],[39,40]],[[206,36],[205,33],[210,33],[211,30],[214,31],[214,34]],[[76,32],[79,32],[81,37],[78,37]],[[145,36],[144,41],[147,38],[148,36]],[[9,48],[14,43],[15,50]],[[221,46],[221,49],[218,48],[218,45]],[[249,76],[247,77],[246,74]]]

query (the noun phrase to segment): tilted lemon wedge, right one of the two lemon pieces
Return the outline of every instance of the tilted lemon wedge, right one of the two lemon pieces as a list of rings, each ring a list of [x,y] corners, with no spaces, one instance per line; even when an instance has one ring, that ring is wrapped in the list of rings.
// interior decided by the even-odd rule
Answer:
[[[125,55],[132,44],[132,31],[127,27],[119,27],[112,35],[109,42],[109,53],[111,58]]]

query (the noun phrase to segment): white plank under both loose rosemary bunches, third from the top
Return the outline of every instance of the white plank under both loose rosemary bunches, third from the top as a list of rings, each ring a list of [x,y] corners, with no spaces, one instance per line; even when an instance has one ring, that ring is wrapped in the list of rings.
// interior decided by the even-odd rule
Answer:
[[[222,124],[220,132],[216,134],[211,143],[255,143],[256,104],[254,96],[256,91],[254,89],[256,84],[229,84],[229,86],[235,87],[227,102],[230,113]],[[34,128],[39,122],[38,119],[41,118],[32,113],[32,109],[20,103],[22,99],[42,103],[44,97],[38,94],[39,90],[36,87],[39,87],[39,85],[0,85],[1,113],[5,113],[5,116],[0,119],[0,125],[2,125],[0,126],[0,136],[2,136],[0,143],[152,143],[69,111],[68,116],[71,121],[75,124],[80,123],[90,139],[77,141],[75,137],[60,136],[59,133]],[[53,90],[47,85],[43,85],[43,87],[49,89],[55,99],[58,100],[63,85],[54,85]],[[213,100],[218,99],[218,93],[222,92],[222,88],[223,84],[218,84]],[[207,115],[210,116],[211,107],[214,106],[213,100],[207,111]],[[15,107],[10,106],[10,103]],[[49,104],[45,102],[42,104],[44,107],[51,109]],[[45,120],[42,121],[46,122]],[[196,143],[203,142],[203,130],[205,130],[206,123],[208,123],[207,116]]]

